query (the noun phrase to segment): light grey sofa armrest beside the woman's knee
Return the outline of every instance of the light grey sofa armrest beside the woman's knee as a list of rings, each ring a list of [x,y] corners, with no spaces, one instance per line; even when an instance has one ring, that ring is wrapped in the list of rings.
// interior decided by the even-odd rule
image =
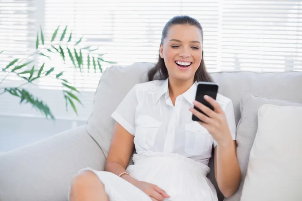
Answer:
[[[105,161],[86,126],[0,154],[0,200],[65,201],[72,177]]]

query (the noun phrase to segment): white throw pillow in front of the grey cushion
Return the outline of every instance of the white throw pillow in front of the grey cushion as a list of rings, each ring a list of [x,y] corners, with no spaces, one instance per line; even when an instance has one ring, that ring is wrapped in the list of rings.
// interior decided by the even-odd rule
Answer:
[[[302,107],[261,106],[241,200],[302,200],[301,145]]]

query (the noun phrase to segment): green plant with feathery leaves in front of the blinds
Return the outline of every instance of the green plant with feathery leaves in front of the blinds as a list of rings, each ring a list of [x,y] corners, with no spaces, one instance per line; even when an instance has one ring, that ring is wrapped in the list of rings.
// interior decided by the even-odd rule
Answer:
[[[11,62],[9,62],[2,71],[6,74],[5,77],[0,81],[0,95],[4,93],[9,93],[20,98],[20,104],[27,103],[31,104],[33,108],[40,111],[45,117],[48,119],[55,119],[53,114],[51,113],[50,108],[46,103],[43,102],[42,99],[36,97],[34,94],[30,93],[27,89],[24,88],[27,84],[35,85],[35,82],[39,79],[43,79],[45,77],[51,77],[56,79],[61,83],[62,92],[65,98],[66,110],[68,105],[70,105],[73,111],[77,113],[77,108],[74,105],[74,101],[79,102],[81,105],[81,100],[78,97],[78,93],[80,91],[72,86],[71,82],[66,79],[63,79],[64,71],[57,70],[60,67],[46,67],[47,62],[43,61],[43,63],[38,65],[38,57],[44,57],[49,60],[52,59],[52,56],[59,55],[65,64],[65,67],[72,67],[75,71],[82,71],[87,68],[88,72],[93,70],[94,72],[99,71],[103,72],[101,63],[115,63],[104,60],[102,57],[104,54],[96,54],[95,51],[98,48],[92,48],[92,46],[83,47],[81,46],[81,42],[83,37],[74,41],[72,37],[72,31],[70,32],[68,39],[66,37],[67,26],[62,31],[60,37],[57,37],[60,26],[58,26],[52,34],[51,40],[46,44],[44,41],[44,34],[42,29],[37,33],[36,39],[36,50],[32,54],[30,54],[25,59],[15,58]],[[58,41],[56,41],[56,39]],[[5,50],[0,51],[2,54]],[[83,56],[83,54],[87,54],[87,56]],[[66,64],[66,61],[72,63],[71,65]],[[87,65],[84,65],[83,61],[87,61]],[[58,73],[54,73],[58,72]],[[11,73],[14,73],[23,81],[19,86],[14,87],[2,87],[4,80]]]

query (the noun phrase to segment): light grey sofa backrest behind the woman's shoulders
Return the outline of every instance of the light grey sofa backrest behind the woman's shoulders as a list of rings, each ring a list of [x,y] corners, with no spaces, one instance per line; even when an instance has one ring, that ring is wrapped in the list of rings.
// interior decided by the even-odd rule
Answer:
[[[134,84],[147,81],[146,73],[153,66],[152,63],[112,66],[103,73],[95,94],[93,112],[88,119],[87,132],[106,156],[115,123],[111,114]],[[211,76],[219,84],[218,92],[233,100],[236,124],[241,117],[241,97],[246,93],[302,103],[302,72],[215,72]],[[209,167],[211,172],[208,177],[217,188],[213,157]],[[218,189],[217,192],[221,197]]]

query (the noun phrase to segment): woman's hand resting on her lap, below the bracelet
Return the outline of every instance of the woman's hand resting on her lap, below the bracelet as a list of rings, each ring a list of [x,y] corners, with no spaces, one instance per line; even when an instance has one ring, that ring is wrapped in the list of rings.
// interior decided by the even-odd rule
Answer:
[[[165,190],[152,183],[136,180],[133,184],[150,196],[153,201],[163,201],[170,197]]]

